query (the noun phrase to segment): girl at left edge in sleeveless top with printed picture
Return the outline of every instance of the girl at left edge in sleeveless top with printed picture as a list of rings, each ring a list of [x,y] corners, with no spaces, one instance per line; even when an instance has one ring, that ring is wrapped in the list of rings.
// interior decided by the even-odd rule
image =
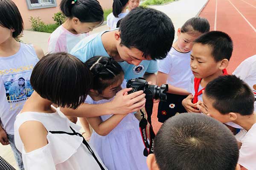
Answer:
[[[11,145],[20,170],[24,168],[21,153],[15,147],[13,125],[33,91],[27,85],[32,68],[44,55],[41,48],[15,40],[22,31],[23,20],[15,3],[0,0],[0,143]]]

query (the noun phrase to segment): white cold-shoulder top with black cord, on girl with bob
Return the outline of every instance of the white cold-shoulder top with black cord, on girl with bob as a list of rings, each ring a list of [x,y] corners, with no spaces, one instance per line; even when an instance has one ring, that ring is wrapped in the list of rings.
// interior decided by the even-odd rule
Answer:
[[[24,112],[17,115],[14,125],[15,145],[22,153],[24,168],[26,170],[101,170],[90,151],[82,143],[82,137],[49,132],[73,133],[70,127],[79,132],[81,127],[70,122],[63,113],[59,112],[57,109],[55,113]],[[49,132],[47,134],[48,144],[29,153],[24,150],[19,135],[19,127],[26,121],[41,122]],[[95,155],[107,170],[98,154],[95,153]]]

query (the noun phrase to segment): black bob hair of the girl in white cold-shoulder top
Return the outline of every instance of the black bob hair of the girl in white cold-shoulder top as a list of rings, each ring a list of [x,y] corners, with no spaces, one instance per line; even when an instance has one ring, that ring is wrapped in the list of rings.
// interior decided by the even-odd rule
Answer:
[[[92,74],[81,60],[65,52],[52,53],[35,65],[30,82],[44,99],[76,109],[92,87]]]

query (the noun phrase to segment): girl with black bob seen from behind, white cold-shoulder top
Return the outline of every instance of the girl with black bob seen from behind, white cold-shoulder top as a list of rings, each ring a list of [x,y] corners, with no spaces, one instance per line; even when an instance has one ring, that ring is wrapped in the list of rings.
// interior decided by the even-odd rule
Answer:
[[[106,170],[78,133],[79,128],[52,107],[76,109],[92,84],[89,69],[61,52],[43,57],[32,71],[34,92],[15,120],[15,144],[26,170]]]

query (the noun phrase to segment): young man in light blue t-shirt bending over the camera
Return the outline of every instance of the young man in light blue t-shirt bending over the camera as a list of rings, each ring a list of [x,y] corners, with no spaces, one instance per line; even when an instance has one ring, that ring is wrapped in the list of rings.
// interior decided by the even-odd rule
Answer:
[[[144,76],[147,81],[156,84],[155,59],[166,57],[172,47],[174,34],[172,20],[166,14],[152,8],[139,7],[122,19],[119,29],[86,37],[73,48],[71,54],[83,62],[97,55],[112,57],[122,66],[125,79]],[[83,104],[76,111],[63,111],[70,116],[90,117],[131,113],[143,108],[145,95],[141,91],[123,95],[127,91],[121,91],[111,103]]]

